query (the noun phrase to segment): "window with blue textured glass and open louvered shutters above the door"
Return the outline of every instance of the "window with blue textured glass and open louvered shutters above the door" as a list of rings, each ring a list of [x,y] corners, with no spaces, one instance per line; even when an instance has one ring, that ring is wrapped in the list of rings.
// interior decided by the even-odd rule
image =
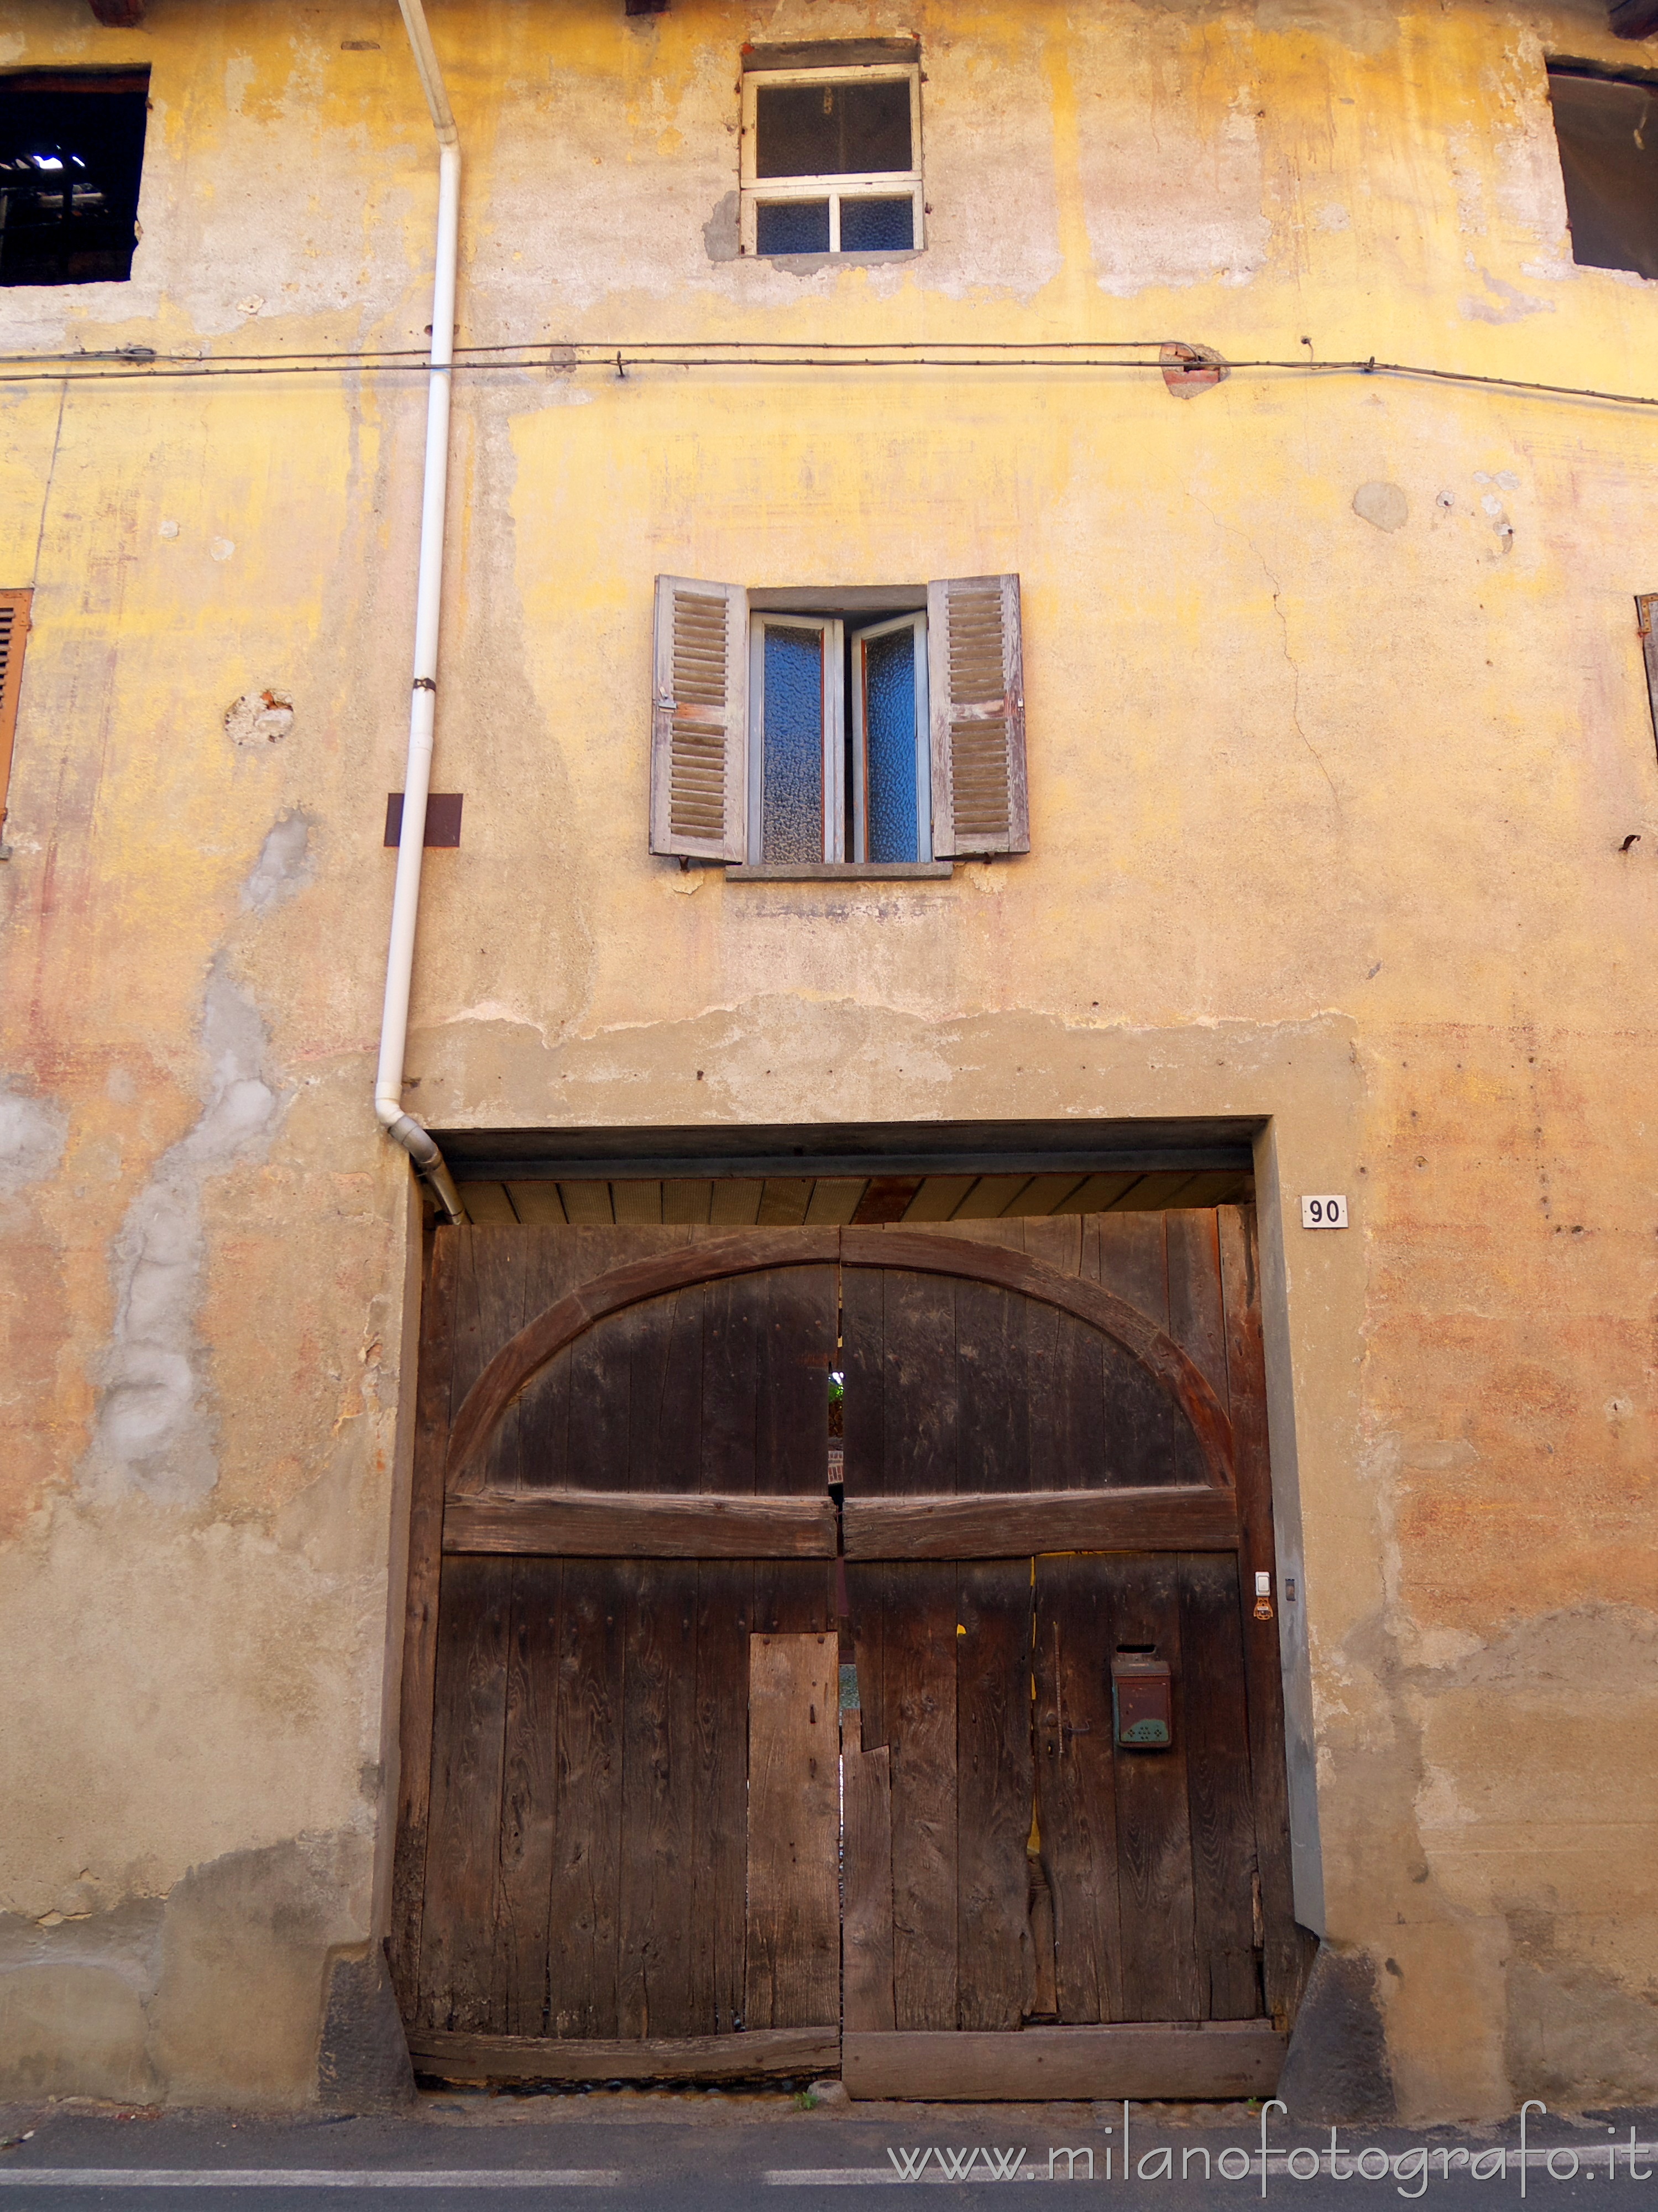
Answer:
[[[769,869],[1030,852],[1019,577],[657,577],[650,849]]]

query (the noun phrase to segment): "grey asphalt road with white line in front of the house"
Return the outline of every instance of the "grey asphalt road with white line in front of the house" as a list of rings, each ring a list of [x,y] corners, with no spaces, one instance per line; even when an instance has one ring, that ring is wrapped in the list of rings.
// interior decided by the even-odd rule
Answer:
[[[1231,2108],[1194,2124],[1121,2106],[802,2108],[783,2097],[424,2097],[398,2117],[254,2119],[29,2106],[0,2110],[0,2212],[847,2212],[882,2192],[995,2205],[1035,2183],[1099,2212],[1658,2212],[1658,2112],[1525,2115],[1492,2130],[1298,2128]],[[1634,2152],[1631,2152],[1634,2146]],[[940,2199],[937,2192],[944,2192]],[[895,2212],[895,2208],[893,2208]]]

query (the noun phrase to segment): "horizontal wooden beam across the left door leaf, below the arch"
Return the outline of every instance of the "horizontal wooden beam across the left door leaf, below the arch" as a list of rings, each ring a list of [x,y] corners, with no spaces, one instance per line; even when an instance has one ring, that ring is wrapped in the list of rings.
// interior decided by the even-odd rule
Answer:
[[[548,1559],[833,1559],[829,1498],[473,1491],[444,1502],[444,1551]]]

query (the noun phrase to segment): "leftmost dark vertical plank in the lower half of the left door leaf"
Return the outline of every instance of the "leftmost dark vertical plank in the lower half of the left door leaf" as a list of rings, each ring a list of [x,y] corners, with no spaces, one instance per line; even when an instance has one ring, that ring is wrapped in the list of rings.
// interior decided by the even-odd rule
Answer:
[[[420,2008],[431,2028],[502,2028],[493,1929],[511,1590],[506,1559],[449,1557],[442,1564],[420,1944]]]

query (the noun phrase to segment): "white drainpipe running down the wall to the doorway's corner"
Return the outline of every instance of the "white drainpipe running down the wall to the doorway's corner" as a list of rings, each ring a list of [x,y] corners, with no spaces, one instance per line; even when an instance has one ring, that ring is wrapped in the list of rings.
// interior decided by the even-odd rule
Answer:
[[[444,498],[449,491],[449,369],[455,356],[455,261],[460,254],[460,133],[449,111],[438,55],[422,0],[398,0],[413,49],[420,88],[438,131],[438,250],[431,279],[431,374],[427,378],[427,476],[420,500],[420,582],[416,586],[413,697],[409,701],[409,765],[402,776],[402,836],[398,880],[391,891],[391,947],[385,962],[380,1013],[380,1068],[374,1110],[389,1137],[409,1152],[438,1192],[451,1221],[464,1221],[455,1179],[427,1130],[402,1110],[402,1055],[409,1040],[409,980],[420,914],[420,860],[427,843],[431,787],[431,726],[438,719],[438,628],[444,599]]]

